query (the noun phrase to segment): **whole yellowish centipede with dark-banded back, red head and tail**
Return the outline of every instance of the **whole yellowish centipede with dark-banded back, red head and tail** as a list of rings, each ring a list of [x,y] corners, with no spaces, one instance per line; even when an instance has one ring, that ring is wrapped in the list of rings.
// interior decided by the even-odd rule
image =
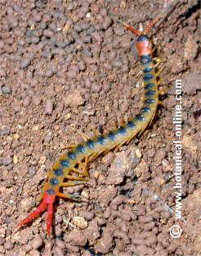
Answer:
[[[127,30],[131,30],[137,36],[136,52],[142,66],[145,89],[143,106],[135,117],[125,122],[122,126],[118,126],[106,134],[87,138],[81,144],[70,146],[68,152],[63,153],[48,172],[38,207],[17,224],[16,231],[47,210],[47,235],[51,235],[56,198],[78,199],[78,195],[62,193],[62,187],[80,185],[87,182],[89,179],[89,163],[101,154],[108,153],[110,150],[117,149],[128,143],[136,135],[141,135],[154,120],[157,108],[161,103],[159,100],[161,94],[159,90],[161,82],[159,74],[161,70],[156,68],[156,66],[159,66],[160,61],[153,57],[153,43],[147,34],[150,32],[150,28],[159,21],[160,17],[152,21],[150,25],[147,25],[144,32],[134,29],[131,25],[127,25],[114,16],[112,18],[114,21],[119,21]]]

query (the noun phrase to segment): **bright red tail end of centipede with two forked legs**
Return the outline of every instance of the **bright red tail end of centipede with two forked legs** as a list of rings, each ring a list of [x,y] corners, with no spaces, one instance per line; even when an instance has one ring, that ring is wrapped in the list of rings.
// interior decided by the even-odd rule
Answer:
[[[26,217],[23,221],[17,224],[16,231],[18,231],[21,228],[21,226],[24,226],[25,224],[31,222],[35,217],[38,217],[47,208],[47,234],[50,235],[53,215],[53,203],[55,202],[56,194],[48,194],[47,191],[44,194],[42,203],[38,205],[38,208],[35,211],[33,211],[33,213],[31,213],[28,217]]]

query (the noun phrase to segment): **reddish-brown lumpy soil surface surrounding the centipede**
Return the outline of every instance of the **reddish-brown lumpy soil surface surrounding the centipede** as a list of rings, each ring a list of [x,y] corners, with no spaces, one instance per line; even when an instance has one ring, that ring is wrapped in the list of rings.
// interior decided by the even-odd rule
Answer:
[[[179,1],[153,39],[167,96],[140,137],[90,164],[86,185],[65,188],[53,235],[46,213],[14,234],[36,206],[53,162],[77,131],[109,131],[142,104],[136,35],[171,1],[0,0],[0,256],[199,256],[201,91],[199,1]],[[157,25],[156,25],[157,28]],[[182,217],[176,220],[176,80],[182,83]],[[74,128],[74,129],[72,129]],[[77,131],[75,131],[77,130]],[[181,236],[170,235],[179,225]]]

